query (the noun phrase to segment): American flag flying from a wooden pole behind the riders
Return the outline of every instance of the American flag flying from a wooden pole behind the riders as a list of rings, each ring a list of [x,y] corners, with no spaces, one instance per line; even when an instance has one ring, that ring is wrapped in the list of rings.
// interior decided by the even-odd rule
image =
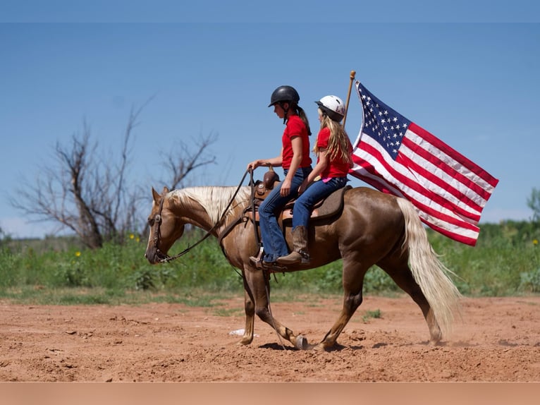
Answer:
[[[350,174],[407,198],[422,222],[474,246],[481,211],[498,179],[383,104],[360,82],[355,87],[364,116]]]

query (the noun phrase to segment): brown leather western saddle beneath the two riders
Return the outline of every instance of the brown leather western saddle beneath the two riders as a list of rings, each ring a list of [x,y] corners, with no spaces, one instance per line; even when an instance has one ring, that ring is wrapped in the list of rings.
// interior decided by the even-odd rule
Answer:
[[[263,181],[256,181],[254,184],[254,204],[255,204],[255,221],[259,222],[259,205],[264,201],[264,199],[269,195],[269,193],[274,190],[274,187],[279,183],[279,176],[276,172],[271,169],[264,174]],[[347,190],[352,188],[351,186],[345,186],[340,188],[330,195],[326,196],[313,206],[312,214],[310,219],[325,219],[331,217],[335,214],[338,214],[343,210],[343,195]],[[290,200],[281,213],[278,214],[278,223],[283,224],[283,226],[290,225],[293,221],[293,207],[296,199]],[[245,212],[246,216],[253,220],[253,212],[247,210]]]

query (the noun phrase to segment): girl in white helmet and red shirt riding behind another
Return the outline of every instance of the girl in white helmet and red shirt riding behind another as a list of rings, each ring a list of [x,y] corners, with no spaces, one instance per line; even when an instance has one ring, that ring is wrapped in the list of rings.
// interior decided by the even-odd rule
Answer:
[[[339,97],[329,95],[318,102],[321,129],[313,151],[317,165],[302,182],[300,197],[293,208],[293,251],[278,258],[279,265],[309,263],[307,229],[314,204],[347,184],[347,174],[352,167],[352,145],[345,128],[340,124],[345,115],[345,106]],[[320,180],[316,179],[320,176]]]

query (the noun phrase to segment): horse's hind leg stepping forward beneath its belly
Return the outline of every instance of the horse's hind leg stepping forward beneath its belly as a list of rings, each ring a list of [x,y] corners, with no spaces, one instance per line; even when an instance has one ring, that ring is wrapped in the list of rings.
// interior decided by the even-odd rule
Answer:
[[[321,343],[314,346],[314,349],[328,350],[336,346],[338,336],[362,303],[362,288],[366,272],[367,268],[360,263],[360,260],[354,259],[353,253],[343,258],[343,308],[331,330],[326,333]]]

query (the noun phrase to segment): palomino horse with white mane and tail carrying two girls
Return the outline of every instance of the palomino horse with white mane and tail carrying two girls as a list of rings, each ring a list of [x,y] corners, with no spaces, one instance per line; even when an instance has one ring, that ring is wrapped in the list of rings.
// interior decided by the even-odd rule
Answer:
[[[362,303],[364,275],[369,267],[381,267],[421,308],[429,327],[430,343],[437,344],[450,330],[460,293],[448,278],[427,240],[417,212],[403,198],[371,188],[345,192],[345,205],[336,217],[312,220],[309,226],[309,265],[287,271],[307,270],[343,259],[343,308],[319,344],[309,345],[276,320],[269,308],[269,274],[250,263],[258,246],[252,222],[245,217],[250,207],[250,186],[192,187],[164,191],[152,188],[154,202],[148,217],[150,235],[145,257],[151,263],[166,261],[167,252],[182,236],[185,224],[209,231],[219,238],[228,262],[243,274],[245,332],[239,344],[250,344],[254,315],[273,327],[297,349],[332,349]],[[292,245],[290,228],[286,240]]]

